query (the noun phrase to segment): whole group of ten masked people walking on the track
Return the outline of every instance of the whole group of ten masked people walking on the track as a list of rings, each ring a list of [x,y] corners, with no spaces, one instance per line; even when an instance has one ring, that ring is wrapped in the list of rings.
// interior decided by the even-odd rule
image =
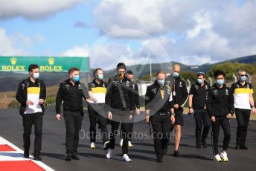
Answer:
[[[21,104],[19,113],[23,120],[24,157],[29,158],[31,129],[35,128],[34,160],[40,161],[42,146],[42,116],[45,113],[45,83],[39,79],[39,66],[32,64],[28,68],[30,77],[19,83],[16,100]],[[225,72],[214,72],[216,83],[209,86],[204,72],[197,73],[196,83],[188,92],[185,81],[179,77],[181,68],[173,65],[173,73],[158,71],[156,81],[147,87],[145,94],[145,120],[153,128],[156,161],[162,162],[167,154],[170,132],[175,130],[175,147],[173,155],[179,157],[179,143],[184,125],[184,105],[188,100],[189,113],[196,123],[196,148],[208,147],[207,137],[211,129],[214,161],[228,161],[227,149],[231,138],[230,118],[235,113],[237,118],[236,149],[248,149],[246,135],[249,118],[256,114],[252,97],[252,85],[246,82],[246,71],[238,73],[239,80],[229,88],[225,84]],[[135,115],[140,114],[140,97],[138,85],[133,81],[134,74],[127,71],[124,63],[118,63],[116,74],[108,83],[104,82],[103,69],[94,71],[95,79],[85,85],[80,82],[79,68],[68,70],[69,78],[60,83],[56,97],[56,119],[61,119],[61,106],[65,120],[65,161],[79,160],[77,146],[79,132],[83,121],[83,100],[89,103],[90,147],[96,148],[96,126],[102,135],[106,158],[111,159],[115,149],[115,138],[121,127],[122,158],[131,162],[128,149],[132,147],[132,128]],[[107,124],[111,124],[108,132]],[[218,150],[220,126],[224,132],[223,149]],[[203,128],[202,128],[203,127]]]

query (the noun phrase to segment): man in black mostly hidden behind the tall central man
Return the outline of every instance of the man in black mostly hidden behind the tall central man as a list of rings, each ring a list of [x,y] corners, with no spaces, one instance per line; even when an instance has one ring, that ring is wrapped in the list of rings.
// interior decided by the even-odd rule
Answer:
[[[131,141],[132,129],[133,129],[135,113],[140,114],[140,99],[138,95],[138,85],[133,81],[134,74],[132,71],[127,71],[127,78],[129,78],[129,80],[132,80],[132,89],[133,89],[132,92],[133,92],[133,101],[134,101],[134,104],[132,105],[132,114],[130,114],[130,118],[129,118],[130,120],[129,120],[129,137],[128,137],[128,146],[129,148],[132,148],[133,147],[132,141]],[[123,141],[124,139],[121,137],[120,146],[123,146]]]

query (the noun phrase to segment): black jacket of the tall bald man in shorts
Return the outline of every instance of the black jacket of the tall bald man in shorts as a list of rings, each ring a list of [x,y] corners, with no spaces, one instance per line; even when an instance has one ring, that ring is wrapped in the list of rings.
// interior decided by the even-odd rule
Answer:
[[[173,79],[173,76],[170,75],[166,77],[166,82],[173,91],[173,104],[178,104],[182,108],[188,100],[188,90],[185,81],[180,77]]]

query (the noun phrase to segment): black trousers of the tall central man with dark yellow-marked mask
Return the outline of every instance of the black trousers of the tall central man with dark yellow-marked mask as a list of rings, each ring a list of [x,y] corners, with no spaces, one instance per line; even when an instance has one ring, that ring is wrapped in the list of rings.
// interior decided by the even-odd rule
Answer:
[[[112,111],[111,134],[109,136],[109,148],[115,149],[115,136],[118,135],[120,123],[122,138],[124,138],[122,151],[123,154],[128,154],[128,137],[129,137],[129,111]]]

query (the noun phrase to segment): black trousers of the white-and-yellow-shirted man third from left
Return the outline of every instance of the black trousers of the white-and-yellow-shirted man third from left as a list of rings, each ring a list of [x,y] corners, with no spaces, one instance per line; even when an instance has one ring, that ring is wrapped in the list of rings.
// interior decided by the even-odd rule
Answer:
[[[90,117],[90,141],[95,142],[96,141],[96,123],[97,120],[100,124],[101,129],[101,135],[102,135],[102,141],[105,143],[106,141],[109,141],[108,138],[108,130],[106,128],[106,110],[105,110],[105,103],[103,104],[92,104],[88,107],[89,117]]]

